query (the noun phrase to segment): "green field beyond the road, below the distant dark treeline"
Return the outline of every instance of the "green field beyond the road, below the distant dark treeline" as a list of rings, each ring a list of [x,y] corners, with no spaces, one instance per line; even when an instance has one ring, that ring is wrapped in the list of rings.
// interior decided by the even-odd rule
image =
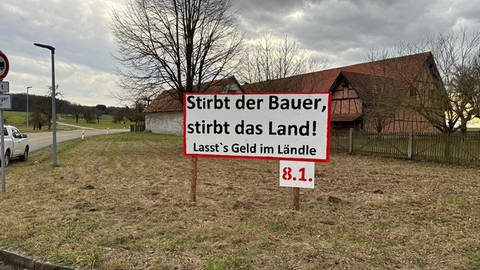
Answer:
[[[39,132],[39,130],[33,130],[33,122],[29,123],[29,128],[27,129],[27,116],[25,112],[14,112],[14,111],[6,111],[5,113],[5,123],[9,125],[13,125],[18,127],[22,132]],[[82,127],[89,127],[89,128],[99,128],[99,129],[121,129],[124,128],[124,125],[121,123],[113,123],[113,118],[111,115],[102,115],[100,119],[100,123],[87,123],[85,119],[80,118],[78,123],[75,122],[73,116],[70,115],[57,115],[57,121],[63,122],[66,124],[71,125],[78,125]],[[130,126],[130,123],[126,123],[127,128]],[[47,126],[44,126],[41,131],[47,131]],[[61,124],[57,125],[59,130],[71,130],[72,127],[64,126]]]

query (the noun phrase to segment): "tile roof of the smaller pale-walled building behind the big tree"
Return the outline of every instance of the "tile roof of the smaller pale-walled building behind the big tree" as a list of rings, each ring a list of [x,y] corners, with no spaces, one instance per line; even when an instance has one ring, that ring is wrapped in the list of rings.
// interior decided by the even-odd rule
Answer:
[[[235,83],[240,86],[235,77],[231,76],[225,79],[216,80],[211,83],[203,83],[200,86],[199,93],[221,93],[226,89],[225,87]],[[183,97],[182,97],[183,98]],[[163,91],[155,98],[150,105],[145,109],[145,113],[156,112],[180,112],[183,111],[182,103],[178,97],[178,92],[175,90]]]

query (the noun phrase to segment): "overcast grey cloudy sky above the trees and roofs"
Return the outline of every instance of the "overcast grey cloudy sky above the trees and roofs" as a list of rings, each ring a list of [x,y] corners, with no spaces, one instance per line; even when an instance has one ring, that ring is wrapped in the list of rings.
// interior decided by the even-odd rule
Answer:
[[[121,105],[119,53],[111,14],[127,0],[0,0],[0,50],[10,61],[10,92],[46,95],[50,52],[63,98],[83,105]],[[375,48],[416,42],[451,30],[480,30],[480,0],[233,0],[240,30],[256,39],[288,35],[329,67],[366,61]]]

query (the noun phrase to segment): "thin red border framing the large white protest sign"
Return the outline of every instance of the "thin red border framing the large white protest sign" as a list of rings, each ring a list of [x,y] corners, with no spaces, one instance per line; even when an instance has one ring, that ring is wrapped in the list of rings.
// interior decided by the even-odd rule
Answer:
[[[212,154],[187,154],[187,96],[188,95],[221,95],[221,96],[239,96],[239,95],[299,95],[299,94],[327,94],[328,95],[328,115],[327,115],[327,138],[326,138],[326,158],[288,158],[275,156],[241,156],[241,155],[212,155]],[[330,161],[330,128],[332,115],[332,93],[331,92],[269,92],[269,93],[184,93],[183,95],[183,155],[189,157],[216,157],[216,158],[239,158],[239,159],[267,159],[267,160],[292,160],[292,161],[311,161],[311,162],[329,162]]]

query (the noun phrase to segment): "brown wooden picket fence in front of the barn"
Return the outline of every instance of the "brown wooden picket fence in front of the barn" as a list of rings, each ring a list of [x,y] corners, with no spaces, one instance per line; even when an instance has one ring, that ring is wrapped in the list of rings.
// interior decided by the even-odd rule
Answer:
[[[334,131],[332,152],[375,154],[385,157],[457,164],[480,164],[480,132],[379,134]]]

